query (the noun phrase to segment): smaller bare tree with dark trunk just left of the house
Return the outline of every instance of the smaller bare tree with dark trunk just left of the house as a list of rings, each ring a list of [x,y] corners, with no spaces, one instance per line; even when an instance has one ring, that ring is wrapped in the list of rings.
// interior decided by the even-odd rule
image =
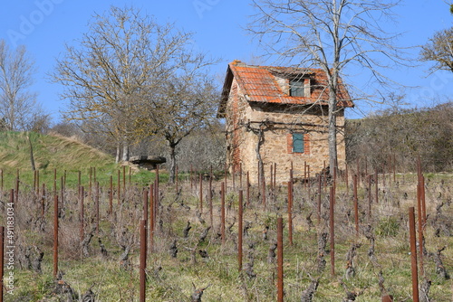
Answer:
[[[218,91],[205,70],[212,63],[199,53],[186,58],[184,68],[147,99],[152,106],[144,129],[155,129],[169,146],[170,182],[175,181],[176,147],[184,137],[209,127],[216,116]]]

